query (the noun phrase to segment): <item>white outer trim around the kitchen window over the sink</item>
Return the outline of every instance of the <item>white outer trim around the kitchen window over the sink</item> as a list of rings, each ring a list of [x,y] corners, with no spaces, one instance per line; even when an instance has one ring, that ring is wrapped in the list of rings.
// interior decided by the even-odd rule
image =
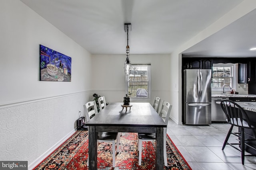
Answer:
[[[237,82],[237,72],[236,72],[236,64],[233,63],[218,63],[218,64],[213,64],[213,67],[216,66],[232,66],[233,67],[233,78],[232,78],[232,89],[236,90],[236,82]],[[225,91],[231,91],[230,88],[228,86],[225,86],[224,88]],[[222,88],[212,88],[212,91],[223,91],[223,87]]]

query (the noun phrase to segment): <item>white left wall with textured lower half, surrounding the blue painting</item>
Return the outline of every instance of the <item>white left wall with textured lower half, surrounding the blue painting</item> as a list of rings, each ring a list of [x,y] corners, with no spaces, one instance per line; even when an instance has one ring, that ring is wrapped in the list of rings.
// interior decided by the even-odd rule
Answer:
[[[19,0],[0,1],[0,160],[29,169],[69,137],[91,97],[91,56]],[[39,81],[39,44],[72,57],[71,82]]]

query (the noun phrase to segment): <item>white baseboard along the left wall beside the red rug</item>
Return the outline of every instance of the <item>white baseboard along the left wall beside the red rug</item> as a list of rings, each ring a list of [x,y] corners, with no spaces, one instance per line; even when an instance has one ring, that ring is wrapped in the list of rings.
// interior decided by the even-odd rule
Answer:
[[[49,156],[55,149],[57,149],[62,143],[64,143],[69,137],[71,137],[76,132],[76,129],[72,130],[66,136],[64,136],[60,141],[58,141],[54,146],[44,152],[41,156],[36,158],[31,164],[28,164],[28,170],[35,168],[40,162],[42,162],[47,156]]]

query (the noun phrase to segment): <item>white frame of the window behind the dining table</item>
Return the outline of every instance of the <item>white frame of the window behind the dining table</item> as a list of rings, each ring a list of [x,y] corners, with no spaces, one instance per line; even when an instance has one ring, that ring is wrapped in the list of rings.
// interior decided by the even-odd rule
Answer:
[[[151,64],[150,63],[134,63],[132,64],[132,67],[148,67],[147,70],[147,77],[148,77],[148,81],[142,81],[142,82],[148,82],[148,96],[147,97],[130,97],[130,102],[132,101],[150,101],[151,100]],[[128,83],[129,83],[129,76],[130,75],[126,75],[125,76],[125,92],[126,94],[128,94]]]

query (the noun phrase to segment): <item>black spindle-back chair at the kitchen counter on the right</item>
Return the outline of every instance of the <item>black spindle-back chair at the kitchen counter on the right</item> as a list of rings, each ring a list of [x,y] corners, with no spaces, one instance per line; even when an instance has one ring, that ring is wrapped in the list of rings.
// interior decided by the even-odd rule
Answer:
[[[241,159],[242,164],[244,165],[244,156],[256,156],[256,154],[246,154],[245,155],[245,146],[248,148],[256,149],[249,145],[249,143],[253,143],[256,141],[256,127],[252,125],[246,111],[239,106],[237,103],[233,102],[232,100],[222,100],[220,102],[221,108],[224,111],[227,119],[226,122],[231,125],[228,134],[226,135],[226,139],[224,141],[222,150],[226,147],[226,145],[230,145],[231,147],[239,150],[241,152]],[[232,132],[233,127],[236,126],[240,129],[238,132]],[[253,136],[249,137],[248,139],[245,138],[244,129],[251,129]],[[238,137],[238,143],[228,143],[228,139],[230,135],[235,135]],[[250,141],[246,143],[246,141]],[[235,145],[238,145],[237,147]]]

